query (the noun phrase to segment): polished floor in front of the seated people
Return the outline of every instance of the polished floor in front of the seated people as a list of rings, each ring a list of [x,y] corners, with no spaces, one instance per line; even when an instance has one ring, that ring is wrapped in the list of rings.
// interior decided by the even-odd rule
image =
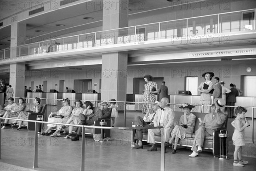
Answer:
[[[1,171],[26,170],[33,168],[34,131],[21,129],[2,130],[1,144]],[[143,149],[130,148],[127,137],[119,137],[116,140],[100,144],[92,137],[86,136],[85,146],[85,170],[94,171],[139,171],[160,170],[160,146],[154,152]],[[165,168],[172,171],[255,171],[255,158],[244,157],[249,161],[244,168],[233,166],[233,156],[230,160],[218,160],[211,152],[202,152],[199,157],[190,158],[189,148],[171,154],[171,148],[165,154]],[[40,171],[77,171],[80,170],[81,140],[72,142],[63,137],[52,138],[38,135],[38,168]],[[6,167],[11,164],[12,168]],[[15,168],[13,165],[17,165]],[[23,168],[23,169],[20,169]]]

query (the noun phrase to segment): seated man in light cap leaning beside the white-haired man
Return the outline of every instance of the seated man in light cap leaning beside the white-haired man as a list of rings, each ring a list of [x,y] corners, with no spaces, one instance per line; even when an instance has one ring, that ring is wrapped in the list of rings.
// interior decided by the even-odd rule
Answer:
[[[150,114],[150,109],[148,109],[147,114],[142,118],[140,116],[137,117],[137,126],[141,127],[154,127],[154,115],[156,114],[157,109],[161,108],[161,103],[158,101],[155,101],[154,105],[152,106],[154,113]],[[135,140],[138,140],[138,144],[135,147],[131,147],[133,149],[139,149],[143,148],[142,145],[142,138],[143,138],[143,132],[148,132],[147,129],[137,129],[135,133]]]

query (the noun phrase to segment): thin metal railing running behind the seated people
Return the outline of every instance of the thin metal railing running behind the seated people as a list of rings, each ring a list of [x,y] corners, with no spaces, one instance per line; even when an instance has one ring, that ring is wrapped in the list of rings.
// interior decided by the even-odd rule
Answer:
[[[13,97],[14,99],[18,99],[18,97]],[[34,99],[34,98],[26,98],[26,99]],[[40,98],[41,100],[46,100],[46,104],[47,104],[47,100],[62,100],[62,99],[46,99],[46,98]],[[76,101],[76,100],[70,100],[70,101]],[[96,107],[96,103],[98,102],[102,102],[101,100],[84,100],[84,101],[90,101],[90,102],[93,102],[94,103],[94,106]],[[109,101],[111,102],[111,101]],[[126,126],[126,113],[127,113],[127,104],[153,104],[153,103],[145,103],[145,102],[126,102],[126,101],[114,101],[116,103],[124,103],[124,121],[123,121],[123,126],[125,127]],[[56,104],[55,104],[56,105]],[[169,105],[183,105],[181,103],[169,103]],[[204,113],[204,107],[210,107],[211,105],[198,105],[198,104],[194,104],[194,103],[191,103],[191,105],[195,105],[195,106],[201,106],[202,107],[202,113]],[[230,106],[230,105],[225,105],[225,107],[233,107],[233,108],[236,108],[237,106]],[[255,106],[243,106],[244,108],[251,108],[252,109],[252,126],[251,126],[251,130],[252,130],[252,143],[254,143],[254,109],[256,109]]]

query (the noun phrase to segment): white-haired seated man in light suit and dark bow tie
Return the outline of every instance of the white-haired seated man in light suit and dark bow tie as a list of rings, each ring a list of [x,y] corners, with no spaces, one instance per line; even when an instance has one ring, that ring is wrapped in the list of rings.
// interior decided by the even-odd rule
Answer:
[[[154,117],[154,126],[164,127],[164,141],[167,143],[174,128],[174,111],[168,106],[168,98],[164,97],[160,103],[161,108],[157,109]],[[152,145],[148,151],[157,151],[154,135],[161,135],[161,129],[148,129],[148,143]]]

